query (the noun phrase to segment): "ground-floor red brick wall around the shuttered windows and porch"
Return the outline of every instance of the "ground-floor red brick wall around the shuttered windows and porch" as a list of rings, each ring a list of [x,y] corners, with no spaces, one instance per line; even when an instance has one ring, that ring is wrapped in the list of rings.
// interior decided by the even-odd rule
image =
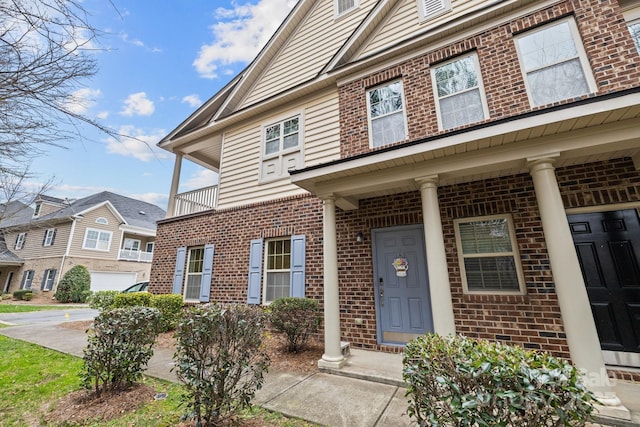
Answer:
[[[556,175],[567,207],[640,202],[640,173],[630,159],[560,168]],[[457,330],[568,357],[531,177],[521,174],[446,186],[438,194]],[[453,221],[504,213],[514,221],[527,293],[464,294]],[[408,224],[422,224],[419,192],[362,200],[360,209],[336,213],[342,338],[354,347],[399,350],[380,347],[376,341],[371,230]],[[364,233],[365,242],[356,242],[358,232]],[[322,302],[322,205],[312,196],[162,221],[152,291],[171,292],[177,247],[214,243],[211,299],[245,302],[249,241],[291,234],[307,237],[306,295]],[[355,319],[362,319],[362,324]]]

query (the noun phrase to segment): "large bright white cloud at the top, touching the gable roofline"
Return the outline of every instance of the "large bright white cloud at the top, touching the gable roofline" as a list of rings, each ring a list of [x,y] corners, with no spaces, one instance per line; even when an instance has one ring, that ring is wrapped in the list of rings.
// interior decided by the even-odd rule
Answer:
[[[218,77],[218,68],[251,61],[267,43],[295,0],[258,0],[257,4],[237,4],[233,9],[218,8],[211,32],[213,41],[200,47],[193,61],[196,71],[206,78]]]

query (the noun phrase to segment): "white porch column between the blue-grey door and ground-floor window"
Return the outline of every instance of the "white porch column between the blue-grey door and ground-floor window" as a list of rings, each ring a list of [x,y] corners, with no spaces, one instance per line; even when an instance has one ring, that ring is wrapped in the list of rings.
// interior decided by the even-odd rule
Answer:
[[[429,176],[416,179],[422,197],[422,218],[429,271],[429,292],[433,329],[439,335],[456,333],[451,301],[451,284],[447,268],[447,256],[442,235],[442,220],[438,202],[438,178]]]

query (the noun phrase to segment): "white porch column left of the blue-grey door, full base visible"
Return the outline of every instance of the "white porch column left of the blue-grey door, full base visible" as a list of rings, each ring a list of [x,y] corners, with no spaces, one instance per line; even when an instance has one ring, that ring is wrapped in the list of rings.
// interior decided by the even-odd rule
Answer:
[[[324,258],[324,354],[320,368],[341,368],[346,360],[340,348],[340,296],[338,290],[338,244],[336,238],[336,202],[322,197]]]

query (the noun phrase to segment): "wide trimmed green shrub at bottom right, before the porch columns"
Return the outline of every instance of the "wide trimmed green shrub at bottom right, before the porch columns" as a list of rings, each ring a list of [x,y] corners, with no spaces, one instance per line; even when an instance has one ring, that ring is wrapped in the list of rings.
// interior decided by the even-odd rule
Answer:
[[[429,426],[582,426],[595,398],[569,362],[521,347],[435,334],[403,356],[409,415]]]

